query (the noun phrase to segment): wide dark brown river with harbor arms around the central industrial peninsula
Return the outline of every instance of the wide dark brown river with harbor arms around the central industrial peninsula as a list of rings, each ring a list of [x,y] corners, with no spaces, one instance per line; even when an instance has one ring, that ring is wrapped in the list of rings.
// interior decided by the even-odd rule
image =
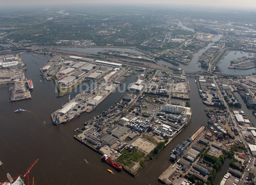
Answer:
[[[0,87],[0,160],[4,163],[0,179],[6,178],[7,171],[13,177],[24,174],[39,158],[30,171],[30,180],[35,177],[35,184],[158,184],[158,177],[171,164],[171,150],[186,140],[199,125],[207,123],[206,106],[202,104],[195,78],[188,77],[193,116],[187,127],[136,177],[124,171],[114,170],[109,174],[106,169],[113,169],[101,161],[99,154],[73,139],[73,135],[74,129],[81,128],[84,122],[114,105],[122,93],[112,93],[91,113],[82,113],[73,121],[54,126],[50,115],[61,106],[62,98],[56,97],[53,82],[42,80],[39,75],[39,69],[48,59],[33,57],[30,53],[22,54],[21,58],[27,65],[26,77],[33,80],[34,89],[31,91],[32,99],[10,103],[9,86]],[[132,75],[126,84],[135,81],[137,74]],[[127,88],[125,83],[121,86],[123,88]],[[67,100],[66,95],[63,102]],[[13,112],[19,108],[26,111]],[[88,164],[83,159],[87,159]]]

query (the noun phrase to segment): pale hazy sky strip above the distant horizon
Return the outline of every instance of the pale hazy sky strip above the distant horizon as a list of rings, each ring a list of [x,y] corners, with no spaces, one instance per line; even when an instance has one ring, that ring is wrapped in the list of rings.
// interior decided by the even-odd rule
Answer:
[[[181,4],[181,5],[203,5],[219,7],[241,7],[256,9],[256,0],[3,0],[1,5],[47,5],[47,4],[85,4],[85,3],[115,3],[115,4]]]

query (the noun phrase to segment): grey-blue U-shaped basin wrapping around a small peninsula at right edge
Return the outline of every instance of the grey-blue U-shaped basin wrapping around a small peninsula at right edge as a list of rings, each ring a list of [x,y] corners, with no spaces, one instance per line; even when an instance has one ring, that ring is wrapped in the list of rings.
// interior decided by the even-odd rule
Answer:
[[[235,54],[236,52],[236,54]],[[249,53],[252,54],[252,56],[249,56]],[[237,58],[246,57],[246,58],[253,58],[254,53],[252,52],[244,52],[240,53],[240,51],[229,51],[229,53],[226,53],[227,56],[224,56],[219,62],[218,66],[221,68],[222,74],[236,74],[236,75],[248,75],[256,72],[256,68],[251,69],[229,69],[228,66],[230,66],[230,61],[235,60]]]

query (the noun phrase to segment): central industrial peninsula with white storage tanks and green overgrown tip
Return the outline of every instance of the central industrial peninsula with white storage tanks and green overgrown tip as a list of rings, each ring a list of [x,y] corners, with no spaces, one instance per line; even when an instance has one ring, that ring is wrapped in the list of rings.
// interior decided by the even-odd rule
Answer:
[[[83,128],[75,129],[79,134],[74,138],[115,161],[132,176],[137,175],[149,160],[182,132],[192,116],[191,108],[184,106],[185,101],[163,96],[164,87],[170,89],[172,83],[187,84],[186,78],[185,82],[177,79],[174,82],[172,75],[161,78],[162,75],[166,76],[161,71],[149,71],[148,79],[145,75],[138,75],[116,106],[93,117],[84,123]],[[147,93],[149,91],[151,94]],[[170,91],[167,90],[166,95],[170,95]]]

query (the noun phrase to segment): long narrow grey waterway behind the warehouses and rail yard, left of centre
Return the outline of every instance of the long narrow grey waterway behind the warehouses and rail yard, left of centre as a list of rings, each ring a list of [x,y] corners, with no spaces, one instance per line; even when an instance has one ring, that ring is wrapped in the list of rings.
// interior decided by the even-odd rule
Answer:
[[[146,55],[145,53],[143,53],[141,51],[137,51],[135,49],[130,49],[130,48],[114,48],[114,47],[113,48],[111,48],[111,47],[79,48],[79,47],[60,47],[60,46],[40,46],[40,47],[35,47],[35,48],[37,48],[37,49],[44,49],[44,48],[62,49],[62,50],[66,50],[66,51],[89,53],[89,54],[93,54],[93,55],[99,55],[98,52],[104,51],[104,50],[121,51],[121,52],[136,53],[139,55]]]

